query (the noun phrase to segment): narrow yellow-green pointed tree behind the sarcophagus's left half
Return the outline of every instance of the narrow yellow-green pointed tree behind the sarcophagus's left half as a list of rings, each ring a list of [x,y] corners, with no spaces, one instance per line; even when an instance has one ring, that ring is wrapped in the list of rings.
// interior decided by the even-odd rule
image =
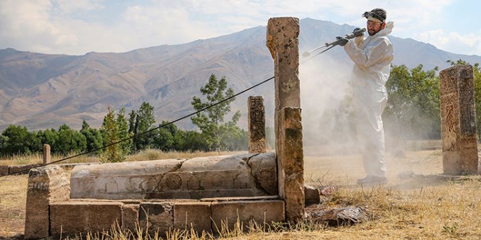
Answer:
[[[103,144],[105,146],[121,140],[119,125],[117,122],[114,109],[109,106],[108,113],[103,118],[103,123],[100,129],[103,137]],[[113,144],[104,148],[100,155],[100,159],[103,162],[121,162],[125,161],[125,155],[126,152],[122,149],[120,144]]]

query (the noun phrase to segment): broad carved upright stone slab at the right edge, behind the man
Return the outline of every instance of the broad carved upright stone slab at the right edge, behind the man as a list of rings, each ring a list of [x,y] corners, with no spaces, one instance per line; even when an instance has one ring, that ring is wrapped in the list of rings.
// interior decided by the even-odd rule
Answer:
[[[441,77],[441,134],[445,174],[478,174],[473,68],[458,65]]]

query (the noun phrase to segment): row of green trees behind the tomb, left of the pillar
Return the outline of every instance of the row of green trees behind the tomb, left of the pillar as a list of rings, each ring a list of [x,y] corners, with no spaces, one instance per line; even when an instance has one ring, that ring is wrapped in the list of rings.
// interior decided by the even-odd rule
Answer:
[[[201,93],[206,100],[194,96],[191,104],[195,110],[204,109],[234,95],[232,88],[227,88],[227,79],[217,79],[215,75],[210,76],[208,83],[201,88]],[[1,155],[29,154],[40,152],[43,144],[49,144],[53,153],[68,155],[107,146],[98,151],[103,161],[123,161],[127,154],[147,148],[165,151],[245,150],[247,131],[237,126],[239,111],[231,120],[224,121],[234,99],[230,98],[193,116],[191,120],[200,131],[184,131],[165,121],[156,125],[153,107],[146,102],[138,110],[132,110],[128,118],[125,116],[125,108],[116,113],[108,107],[100,129],[90,127],[86,121],[82,123],[80,131],[71,129],[66,124],[58,130],[32,132],[24,126],[10,125],[0,135],[0,152]]]

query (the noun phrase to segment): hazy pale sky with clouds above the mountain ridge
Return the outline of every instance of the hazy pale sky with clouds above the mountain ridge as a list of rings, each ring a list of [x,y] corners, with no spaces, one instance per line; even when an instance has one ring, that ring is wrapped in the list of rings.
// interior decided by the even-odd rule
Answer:
[[[481,1],[0,0],[0,49],[83,55],[182,44],[295,16],[365,27],[384,8],[393,36],[481,55]]]

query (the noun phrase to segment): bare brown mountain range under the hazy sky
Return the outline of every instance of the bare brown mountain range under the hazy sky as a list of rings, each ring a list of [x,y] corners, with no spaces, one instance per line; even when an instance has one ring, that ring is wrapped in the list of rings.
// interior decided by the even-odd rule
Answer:
[[[300,27],[300,54],[355,28],[312,18],[302,19]],[[477,55],[448,53],[410,38],[389,38],[395,48],[394,65],[412,68],[423,64],[424,69],[443,69],[449,66],[448,59],[481,62]],[[50,55],[1,49],[0,130],[9,124],[29,130],[57,129],[64,123],[79,129],[82,120],[99,127],[109,105],[114,109],[125,107],[129,113],[143,101],[154,107],[158,123],[175,120],[193,112],[190,102],[193,96],[201,96],[199,89],[211,74],[226,77],[234,92],[272,77],[273,59],[265,40],[266,27],[259,26],[217,38],[126,53]],[[328,61],[330,68],[343,71],[351,65],[340,47],[318,56],[316,61]],[[273,81],[238,96],[232,109],[245,116],[247,97],[255,95],[264,96],[266,117],[271,120]],[[241,118],[239,124],[245,129],[247,119]],[[190,120],[177,125],[193,128]]]

